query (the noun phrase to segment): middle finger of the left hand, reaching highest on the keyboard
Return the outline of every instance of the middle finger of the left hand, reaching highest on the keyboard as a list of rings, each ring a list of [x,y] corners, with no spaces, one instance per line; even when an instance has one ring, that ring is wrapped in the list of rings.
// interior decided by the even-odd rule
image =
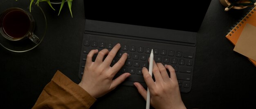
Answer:
[[[106,65],[110,65],[110,63],[112,62],[112,60],[114,59],[114,57],[116,56],[118,50],[121,48],[120,44],[117,44],[114,46],[114,48],[108,53],[108,56],[106,57],[106,59],[103,61],[103,63],[105,63]]]

